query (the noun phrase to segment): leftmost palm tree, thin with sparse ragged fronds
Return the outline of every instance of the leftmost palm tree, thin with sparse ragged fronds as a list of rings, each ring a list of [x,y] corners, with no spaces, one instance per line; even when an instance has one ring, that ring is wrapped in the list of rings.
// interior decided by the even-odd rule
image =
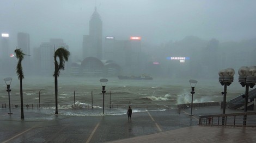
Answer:
[[[24,73],[22,71],[21,62],[24,59],[24,54],[21,49],[15,49],[14,53],[16,54],[16,58],[19,60],[16,67],[16,73],[18,75],[18,79],[20,80],[20,95],[21,95],[21,119],[24,119],[24,111],[23,111],[23,90],[22,90],[22,79],[24,79]]]

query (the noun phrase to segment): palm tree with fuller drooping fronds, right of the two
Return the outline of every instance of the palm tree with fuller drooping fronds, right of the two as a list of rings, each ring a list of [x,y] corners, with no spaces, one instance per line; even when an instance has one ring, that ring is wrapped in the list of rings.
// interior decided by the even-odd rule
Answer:
[[[54,52],[54,86],[55,86],[55,114],[58,114],[58,76],[60,74],[60,70],[65,69],[65,61],[69,60],[70,52],[66,50],[64,47],[58,48]],[[59,57],[59,62],[57,61],[57,57]]]

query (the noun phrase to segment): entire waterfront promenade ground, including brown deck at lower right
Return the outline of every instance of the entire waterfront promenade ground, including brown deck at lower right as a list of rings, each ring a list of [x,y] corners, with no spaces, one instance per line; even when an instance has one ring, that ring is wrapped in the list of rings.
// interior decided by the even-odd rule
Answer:
[[[47,114],[45,112],[47,110]],[[147,111],[127,115],[76,116],[82,109],[0,109],[0,142],[255,142],[253,127],[198,126],[199,115],[221,114],[220,106]],[[52,113],[52,114],[49,114]],[[227,109],[226,113],[237,111]]]

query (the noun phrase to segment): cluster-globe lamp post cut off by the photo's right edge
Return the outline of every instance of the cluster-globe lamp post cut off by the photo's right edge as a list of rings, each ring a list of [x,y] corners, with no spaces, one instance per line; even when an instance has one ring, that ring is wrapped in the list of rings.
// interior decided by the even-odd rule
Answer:
[[[256,82],[256,67],[246,67],[243,66],[238,70],[239,74],[239,83],[242,87],[245,88],[245,107],[243,108],[244,112],[247,112],[248,106],[248,93],[249,87],[253,88]],[[246,125],[247,115],[243,115],[243,125]]]

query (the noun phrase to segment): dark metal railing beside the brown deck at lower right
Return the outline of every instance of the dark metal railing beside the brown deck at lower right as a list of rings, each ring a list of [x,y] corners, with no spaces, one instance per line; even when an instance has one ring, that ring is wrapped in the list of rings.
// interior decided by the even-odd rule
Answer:
[[[256,111],[199,116],[198,125],[256,127]]]

